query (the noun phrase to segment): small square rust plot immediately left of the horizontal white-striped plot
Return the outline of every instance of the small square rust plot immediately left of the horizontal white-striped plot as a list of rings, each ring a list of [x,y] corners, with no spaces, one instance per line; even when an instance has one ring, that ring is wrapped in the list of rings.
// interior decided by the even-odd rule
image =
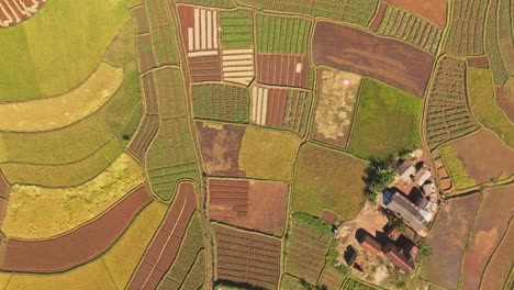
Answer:
[[[189,57],[189,74],[192,81],[220,81],[220,55]]]

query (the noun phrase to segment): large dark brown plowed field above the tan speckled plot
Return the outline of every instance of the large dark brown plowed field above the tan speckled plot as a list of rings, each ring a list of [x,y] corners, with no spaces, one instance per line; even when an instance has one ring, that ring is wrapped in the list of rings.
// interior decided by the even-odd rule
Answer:
[[[314,29],[316,65],[357,72],[423,98],[434,56],[406,43],[356,27],[320,21]]]

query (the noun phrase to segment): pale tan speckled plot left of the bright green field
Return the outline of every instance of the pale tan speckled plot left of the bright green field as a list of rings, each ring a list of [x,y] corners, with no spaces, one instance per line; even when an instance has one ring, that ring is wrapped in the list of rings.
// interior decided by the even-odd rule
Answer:
[[[332,68],[322,68],[317,75],[313,138],[346,148],[361,77]],[[345,81],[349,83],[345,85]]]

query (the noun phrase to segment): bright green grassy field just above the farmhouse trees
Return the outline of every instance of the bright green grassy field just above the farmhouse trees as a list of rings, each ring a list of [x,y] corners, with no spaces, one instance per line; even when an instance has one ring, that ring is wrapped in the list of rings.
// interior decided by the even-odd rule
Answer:
[[[418,148],[422,107],[412,94],[365,79],[348,150],[360,158],[382,158]]]

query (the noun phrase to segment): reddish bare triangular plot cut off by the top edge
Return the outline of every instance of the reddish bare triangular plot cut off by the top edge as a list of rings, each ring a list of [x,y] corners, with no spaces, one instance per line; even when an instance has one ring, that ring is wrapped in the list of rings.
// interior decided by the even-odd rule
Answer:
[[[384,0],[395,7],[411,11],[422,18],[434,22],[439,27],[446,25],[447,0],[412,1],[412,0]]]

